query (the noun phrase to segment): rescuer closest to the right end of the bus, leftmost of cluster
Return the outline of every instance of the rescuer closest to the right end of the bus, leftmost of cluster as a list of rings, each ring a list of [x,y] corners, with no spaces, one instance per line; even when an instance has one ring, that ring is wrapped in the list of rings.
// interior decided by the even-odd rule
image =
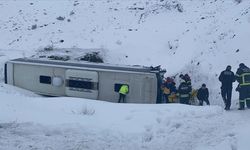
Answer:
[[[163,95],[166,103],[173,102],[173,98],[175,97],[176,87],[173,79],[167,77],[164,85],[163,85]]]

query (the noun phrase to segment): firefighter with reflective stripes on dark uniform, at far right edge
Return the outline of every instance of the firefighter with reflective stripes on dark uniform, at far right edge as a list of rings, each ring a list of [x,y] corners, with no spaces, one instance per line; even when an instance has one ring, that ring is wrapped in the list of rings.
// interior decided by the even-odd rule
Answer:
[[[236,88],[239,92],[239,110],[245,109],[245,103],[247,108],[250,108],[250,69],[244,63],[240,63],[235,76],[239,83]]]

